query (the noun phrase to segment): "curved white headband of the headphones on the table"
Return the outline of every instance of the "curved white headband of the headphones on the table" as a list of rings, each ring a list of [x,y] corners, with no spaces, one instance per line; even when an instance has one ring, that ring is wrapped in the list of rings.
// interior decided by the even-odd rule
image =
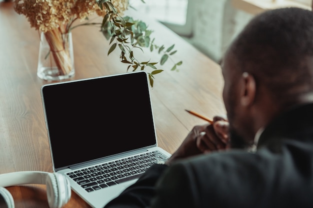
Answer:
[[[45,184],[48,173],[41,171],[19,171],[0,174],[0,187],[11,187],[23,184]]]

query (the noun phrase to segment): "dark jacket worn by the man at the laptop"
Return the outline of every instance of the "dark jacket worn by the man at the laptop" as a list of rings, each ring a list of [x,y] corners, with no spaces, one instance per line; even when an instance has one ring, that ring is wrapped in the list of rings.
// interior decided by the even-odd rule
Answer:
[[[257,151],[154,165],[105,208],[312,208],[313,104],[274,119]]]

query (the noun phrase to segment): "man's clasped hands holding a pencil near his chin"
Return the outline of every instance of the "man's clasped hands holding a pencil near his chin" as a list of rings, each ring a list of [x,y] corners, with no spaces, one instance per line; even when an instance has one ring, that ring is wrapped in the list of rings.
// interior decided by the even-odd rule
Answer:
[[[194,126],[179,148],[165,164],[177,159],[187,158],[228,148],[228,122],[222,117],[214,117],[213,124]]]

